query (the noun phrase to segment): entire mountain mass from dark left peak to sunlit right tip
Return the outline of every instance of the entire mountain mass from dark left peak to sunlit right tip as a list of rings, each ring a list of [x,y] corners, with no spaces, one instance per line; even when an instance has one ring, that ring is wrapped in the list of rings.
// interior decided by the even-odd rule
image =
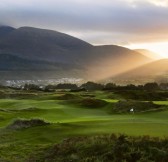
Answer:
[[[0,33],[2,31],[5,30],[0,28]],[[0,37],[0,55],[0,71],[6,78],[10,71],[9,78],[12,78],[14,70],[25,70],[24,78],[32,73],[29,79],[37,76],[36,70],[38,73],[43,72],[47,78],[50,75],[45,75],[44,71],[51,70],[52,78],[69,77],[72,74],[90,80],[102,79],[151,61],[128,48],[116,45],[93,46],[64,33],[33,27],[11,28],[4,32],[4,36]],[[14,77],[17,78],[17,74]],[[20,78],[22,76],[18,75]]]

